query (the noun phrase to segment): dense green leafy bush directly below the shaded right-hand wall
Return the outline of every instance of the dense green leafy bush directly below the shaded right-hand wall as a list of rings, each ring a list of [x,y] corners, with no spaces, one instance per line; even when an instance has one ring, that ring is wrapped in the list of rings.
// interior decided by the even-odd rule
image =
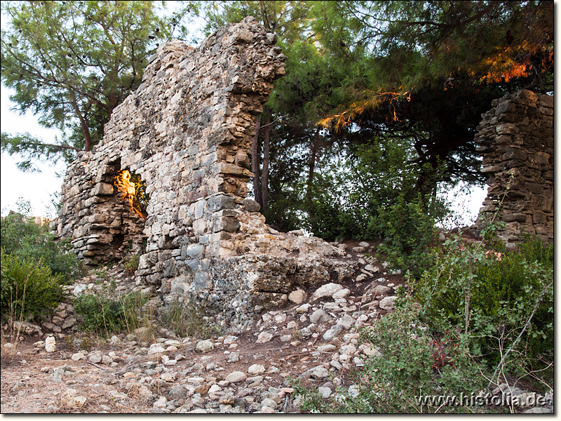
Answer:
[[[473,354],[488,363],[496,364],[513,345],[512,358],[551,354],[553,246],[529,237],[507,253],[459,239],[445,246],[415,285],[421,319],[434,330],[442,331],[442,323],[457,326],[470,335]]]

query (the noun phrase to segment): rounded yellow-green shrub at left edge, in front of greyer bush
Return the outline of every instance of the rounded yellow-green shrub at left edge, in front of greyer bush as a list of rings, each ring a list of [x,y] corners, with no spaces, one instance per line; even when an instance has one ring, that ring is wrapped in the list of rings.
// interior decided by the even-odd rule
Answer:
[[[36,319],[57,307],[64,291],[62,276],[43,260],[19,258],[1,248],[1,318]]]

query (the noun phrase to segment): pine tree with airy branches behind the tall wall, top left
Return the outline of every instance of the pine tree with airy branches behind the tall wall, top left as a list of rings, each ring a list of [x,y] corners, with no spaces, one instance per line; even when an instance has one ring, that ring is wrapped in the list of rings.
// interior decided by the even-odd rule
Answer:
[[[2,135],[2,149],[30,157],[90,150],[111,112],[142,81],[147,57],[169,35],[151,1],[2,1],[1,80],[21,113],[63,133],[56,145]],[[71,156],[68,154],[67,156]]]

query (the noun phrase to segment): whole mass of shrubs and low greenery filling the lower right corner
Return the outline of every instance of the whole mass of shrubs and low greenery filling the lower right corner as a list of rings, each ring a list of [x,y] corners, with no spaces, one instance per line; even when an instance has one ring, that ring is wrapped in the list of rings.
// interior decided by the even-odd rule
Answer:
[[[330,399],[295,383],[313,413],[489,412],[482,406],[427,406],[419,395],[469,396],[522,380],[553,389],[553,246],[527,237],[516,250],[451,239],[393,314],[363,328],[379,347],[351,377],[356,389]],[[502,408],[501,410],[506,410]]]

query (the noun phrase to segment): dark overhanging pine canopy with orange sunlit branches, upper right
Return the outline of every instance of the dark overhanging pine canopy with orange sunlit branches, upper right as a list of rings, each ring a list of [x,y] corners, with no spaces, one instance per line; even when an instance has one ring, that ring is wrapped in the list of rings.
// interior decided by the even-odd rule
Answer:
[[[408,135],[417,162],[445,163],[447,178],[480,179],[473,135],[492,99],[519,88],[553,90],[553,2],[316,7],[324,18],[314,27],[333,60],[360,69],[349,72],[338,88],[339,105],[322,123]]]

